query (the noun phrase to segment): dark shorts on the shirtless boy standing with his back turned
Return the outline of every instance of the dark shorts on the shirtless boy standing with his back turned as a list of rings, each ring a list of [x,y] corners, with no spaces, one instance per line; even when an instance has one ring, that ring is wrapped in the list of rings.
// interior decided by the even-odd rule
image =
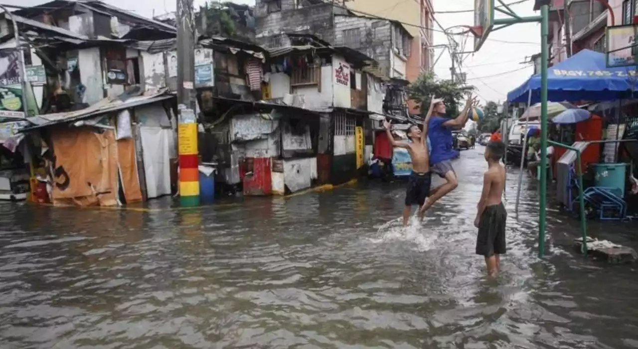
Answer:
[[[480,216],[477,255],[492,257],[505,254],[505,221],[503,203],[487,206]]]

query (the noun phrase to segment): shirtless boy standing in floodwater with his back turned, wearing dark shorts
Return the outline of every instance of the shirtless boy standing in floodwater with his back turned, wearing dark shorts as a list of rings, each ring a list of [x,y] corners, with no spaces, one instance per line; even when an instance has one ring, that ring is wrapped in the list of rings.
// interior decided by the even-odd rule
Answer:
[[[505,220],[507,211],[501,201],[505,187],[505,168],[500,160],[505,153],[505,143],[490,141],[485,149],[487,171],[483,176],[483,192],[477,204],[475,227],[477,236],[477,255],[485,257],[487,273],[495,276],[500,267],[500,255],[505,253]]]

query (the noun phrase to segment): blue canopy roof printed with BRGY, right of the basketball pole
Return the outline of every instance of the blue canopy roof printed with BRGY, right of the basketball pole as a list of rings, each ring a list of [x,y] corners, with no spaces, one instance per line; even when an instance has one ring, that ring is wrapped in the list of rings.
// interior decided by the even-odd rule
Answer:
[[[569,59],[547,69],[549,101],[612,101],[630,98],[632,85],[638,90],[638,73],[634,67],[607,68],[604,53],[582,50]],[[507,101],[540,102],[540,74],[507,94]],[[634,92],[638,96],[638,92]]]

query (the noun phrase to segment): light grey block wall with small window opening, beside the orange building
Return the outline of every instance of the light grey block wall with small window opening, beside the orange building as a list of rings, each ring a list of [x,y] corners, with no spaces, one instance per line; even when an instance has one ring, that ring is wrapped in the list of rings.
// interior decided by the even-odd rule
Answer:
[[[390,55],[392,52],[392,25],[389,20],[373,18],[335,16],[334,45],[348,46],[375,59],[383,74],[390,76]],[[350,45],[344,38],[344,31],[359,29],[359,42]]]

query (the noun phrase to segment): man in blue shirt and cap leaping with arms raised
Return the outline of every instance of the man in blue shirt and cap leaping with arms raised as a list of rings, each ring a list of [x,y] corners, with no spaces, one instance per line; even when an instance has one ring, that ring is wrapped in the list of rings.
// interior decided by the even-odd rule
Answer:
[[[445,117],[445,103],[441,100],[436,100],[434,106],[430,106],[430,111],[428,111],[425,121],[432,144],[430,162],[432,164],[432,172],[445,179],[445,183],[430,190],[430,196],[420,208],[420,217],[423,217],[427,209],[436,201],[458,186],[456,172],[454,167],[452,167],[451,160],[459,157],[459,152],[453,147],[454,136],[452,136],[452,130],[463,129],[470,115],[468,111],[475,104],[477,104],[477,99],[470,94],[463,111],[456,118]]]

